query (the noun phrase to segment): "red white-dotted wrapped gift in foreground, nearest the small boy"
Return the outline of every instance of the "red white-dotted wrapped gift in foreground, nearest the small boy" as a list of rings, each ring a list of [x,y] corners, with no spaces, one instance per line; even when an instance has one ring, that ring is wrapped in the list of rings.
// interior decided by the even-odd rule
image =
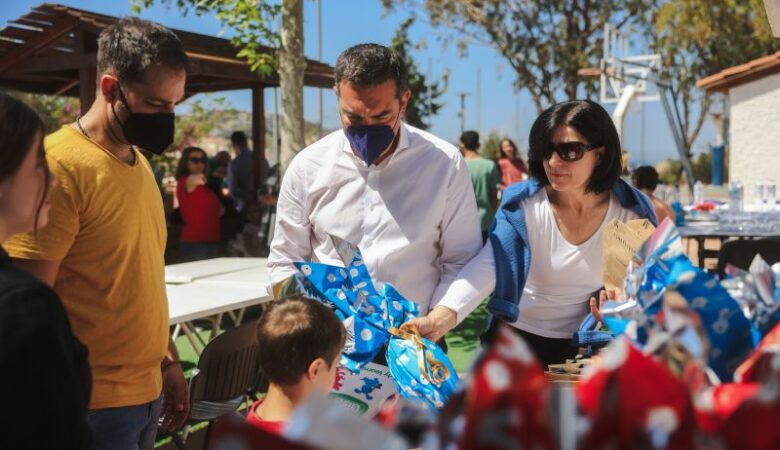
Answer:
[[[458,449],[554,448],[550,386],[531,350],[506,325],[477,362],[467,389]]]

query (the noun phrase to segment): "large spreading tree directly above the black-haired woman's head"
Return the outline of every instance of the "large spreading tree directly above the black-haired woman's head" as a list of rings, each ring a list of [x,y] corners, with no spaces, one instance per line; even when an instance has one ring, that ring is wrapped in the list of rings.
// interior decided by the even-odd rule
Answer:
[[[617,28],[650,20],[655,0],[382,0],[386,10],[424,12],[445,40],[494,48],[515,70],[537,112],[563,99],[596,93],[596,80],[577,71],[598,67],[604,24]],[[449,30],[449,32],[447,31]]]

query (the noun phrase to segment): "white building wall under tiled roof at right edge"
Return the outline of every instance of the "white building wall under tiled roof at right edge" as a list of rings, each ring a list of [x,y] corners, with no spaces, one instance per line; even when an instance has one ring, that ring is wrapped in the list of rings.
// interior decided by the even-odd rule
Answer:
[[[756,183],[780,190],[780,74],[732,88],[729,101],[729,179],[742,183],[747,204]]]

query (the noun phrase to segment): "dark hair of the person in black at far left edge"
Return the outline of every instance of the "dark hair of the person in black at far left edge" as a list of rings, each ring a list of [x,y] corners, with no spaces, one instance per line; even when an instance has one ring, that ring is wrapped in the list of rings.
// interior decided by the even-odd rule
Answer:
[[[40,133],[37,141],[36,133]],[[41,117],[24,102],[5,92],[0,92],[0,182],[10,178],[19,171],[28,151],[37,151],[44,156],[43,135],[46,126]],[[34,150],[30,150],[35,146]],[[38,227],[38,216],[46,202],[49,193],[51,173],[44,160],[44,187],[38,207],[35,211],[35,230]]]

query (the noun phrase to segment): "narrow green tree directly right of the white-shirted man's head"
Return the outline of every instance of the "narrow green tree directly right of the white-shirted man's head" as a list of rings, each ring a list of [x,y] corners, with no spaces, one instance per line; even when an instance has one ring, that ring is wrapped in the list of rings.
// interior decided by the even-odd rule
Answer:
[[[429,83],[425,75],[420,72],[410,54],[413,47],[409,40],[409,28],[414,25],[414,22],[415,18],[409,17],[401,23],[393,36],[390,47],[406,62],[409,71],[408,85],[412,96],[406,107],[404,119],[408,124],[425,130],[429,126],[426,119],[436,115],[444,106],[437,100],[447,91],[449,74],[445,72],[442,75],[441,84],[439,84],[438,81]],[[419,46],[420,44],[415,49]]]

